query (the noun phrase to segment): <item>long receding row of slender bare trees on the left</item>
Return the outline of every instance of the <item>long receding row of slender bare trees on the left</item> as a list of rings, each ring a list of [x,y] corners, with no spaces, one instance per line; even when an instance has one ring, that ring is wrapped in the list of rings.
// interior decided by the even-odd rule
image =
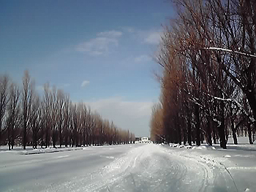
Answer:
[[[69,95],[44,86],[42,97],[26,71],[23,87],[0,77],[0,145],[53,145],[78,147],[117,145],[135,141],[135,134],[121,130],[113,122],[91,112],[86,104],[75,104]]]

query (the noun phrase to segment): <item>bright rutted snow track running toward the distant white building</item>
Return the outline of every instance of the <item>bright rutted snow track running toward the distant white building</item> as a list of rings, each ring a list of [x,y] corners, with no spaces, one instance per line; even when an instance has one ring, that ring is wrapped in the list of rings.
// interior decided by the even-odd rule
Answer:
[[[237,191],[225,166],[213,158],[143,145],[97,172],[45,191]]]

